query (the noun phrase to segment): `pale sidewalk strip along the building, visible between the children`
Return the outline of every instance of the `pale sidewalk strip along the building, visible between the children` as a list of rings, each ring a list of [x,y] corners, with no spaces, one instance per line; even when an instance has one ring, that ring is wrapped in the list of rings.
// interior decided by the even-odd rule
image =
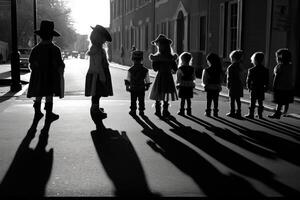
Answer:
[[[118,63],[110,63],[110,65],[112,67],[116,67],[122,70],[127,70],[128,66],[125,65],[120,65]],[[156,72],[154,72],[153,70],[149,71],[150,77],[154,78],[156,76]],[[176,76],[174,75],[174,80],[176,80]],[[201,85],[201,79],[196,79],[196,90],[199,91],[203,91],[204,92],[204,88]],[[222,86],[222,91],[220,93],[220,96],[225,97],[225,98],[229,98],[228,95],[228,90],[226,88],[226,86]],[[274,111],[276,104],[272,102],[272,94],[271,93],[265,93],[265,100],[264,100],[264,107],[266,110],[268,111]],[[241,101],[245,104],[250,104],[250,93],[248,90],[244,89],[244,97],[241,99]],[[296,98],[294,99],[294,103],[290,104],[290,108],[289,110],[293,110],[293,113],[289,114],[291,117],[296,117],[300,119],[300,98]]]

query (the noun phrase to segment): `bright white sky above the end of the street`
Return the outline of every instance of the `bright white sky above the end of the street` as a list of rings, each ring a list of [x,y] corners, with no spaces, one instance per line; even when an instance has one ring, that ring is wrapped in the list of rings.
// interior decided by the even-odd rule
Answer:
[[[75,29],[80,34],[90,34],[90,26],[109,26],[110,0],[65,0],[71,8]]]

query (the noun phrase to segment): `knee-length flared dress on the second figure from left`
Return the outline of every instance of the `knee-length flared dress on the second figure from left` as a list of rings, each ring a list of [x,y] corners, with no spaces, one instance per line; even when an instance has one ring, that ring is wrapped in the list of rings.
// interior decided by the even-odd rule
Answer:
[[[90,65],[85,80],[85,96],[113,96],[112,81],[105,50],[92,46]]]

